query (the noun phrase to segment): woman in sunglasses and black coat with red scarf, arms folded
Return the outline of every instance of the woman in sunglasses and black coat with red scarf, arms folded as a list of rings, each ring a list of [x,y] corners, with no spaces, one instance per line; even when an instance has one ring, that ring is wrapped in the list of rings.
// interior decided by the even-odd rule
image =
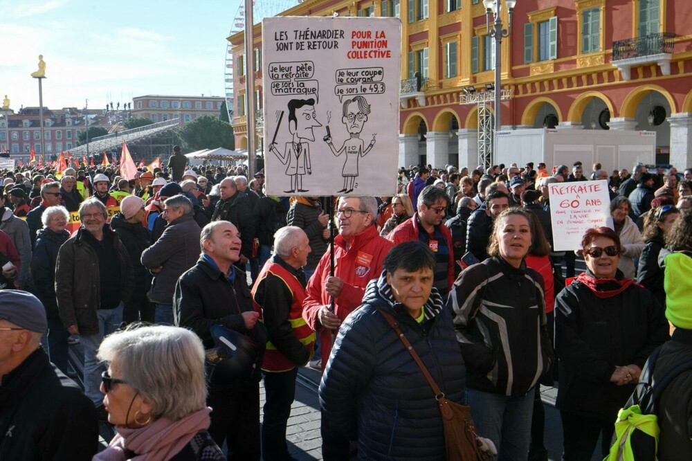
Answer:
[[[563,460],[590,460],[599,434],[608,455],[618,410],[639,381],[649,354],[668,339],[664,309],[617,269],[623,248],[614,230],[586,231],[587,271],[567,279],[555,300]]]

